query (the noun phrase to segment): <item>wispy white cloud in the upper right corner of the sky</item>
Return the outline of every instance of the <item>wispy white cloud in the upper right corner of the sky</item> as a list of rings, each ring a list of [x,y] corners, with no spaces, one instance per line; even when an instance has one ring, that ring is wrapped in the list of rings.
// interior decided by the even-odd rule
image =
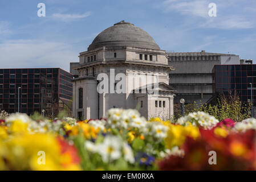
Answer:
[[[255,26],[253,18],[255,15],[242,12],[242,6],[234,6],[230,1],[217,1],[217,17],[210,17],[208,15],[209,3],[211,3],[209,0],[166,0],[162,2],[161,8],[165,13],[185,15],[185,19],[195,28],[241,29]]]

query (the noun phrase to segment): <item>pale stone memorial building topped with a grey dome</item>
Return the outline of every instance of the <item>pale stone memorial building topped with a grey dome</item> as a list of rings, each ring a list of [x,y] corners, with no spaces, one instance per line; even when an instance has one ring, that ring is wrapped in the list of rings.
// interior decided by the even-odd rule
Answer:
[[[145,118],[173,117],[176,90],[169,86],[166,52],[144,30],[121,21],[96,36],[80,52],[73,81],[73,114],[80,119],[104,117],[108,109],[139,109]]]

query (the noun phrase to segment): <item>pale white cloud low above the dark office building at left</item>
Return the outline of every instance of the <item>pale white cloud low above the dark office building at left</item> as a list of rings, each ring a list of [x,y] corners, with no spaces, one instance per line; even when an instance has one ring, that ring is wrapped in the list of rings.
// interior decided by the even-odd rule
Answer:
[[[60,67],[69,71],[78,52],[61,42],[44,40],[9,40],[0,44],[1,68]]]

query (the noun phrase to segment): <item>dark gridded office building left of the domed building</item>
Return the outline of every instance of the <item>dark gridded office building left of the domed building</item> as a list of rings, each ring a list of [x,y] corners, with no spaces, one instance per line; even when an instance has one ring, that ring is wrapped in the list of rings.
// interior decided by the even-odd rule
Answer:
[[[66,108],[71,116],[72,78],[60,68],[0,69],[0,109],[29,115],[45,110],[55,117]]]

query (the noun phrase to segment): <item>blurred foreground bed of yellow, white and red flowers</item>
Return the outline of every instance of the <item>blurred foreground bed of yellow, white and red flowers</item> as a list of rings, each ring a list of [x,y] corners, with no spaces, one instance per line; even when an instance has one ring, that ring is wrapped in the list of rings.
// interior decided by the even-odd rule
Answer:
[[[132,109],[89,121],[34,121],[16,113],[0,122],[0,169],[255,169],[255,129],[256,119],[219,122],[204,112],[177,123],[147,121]]]

